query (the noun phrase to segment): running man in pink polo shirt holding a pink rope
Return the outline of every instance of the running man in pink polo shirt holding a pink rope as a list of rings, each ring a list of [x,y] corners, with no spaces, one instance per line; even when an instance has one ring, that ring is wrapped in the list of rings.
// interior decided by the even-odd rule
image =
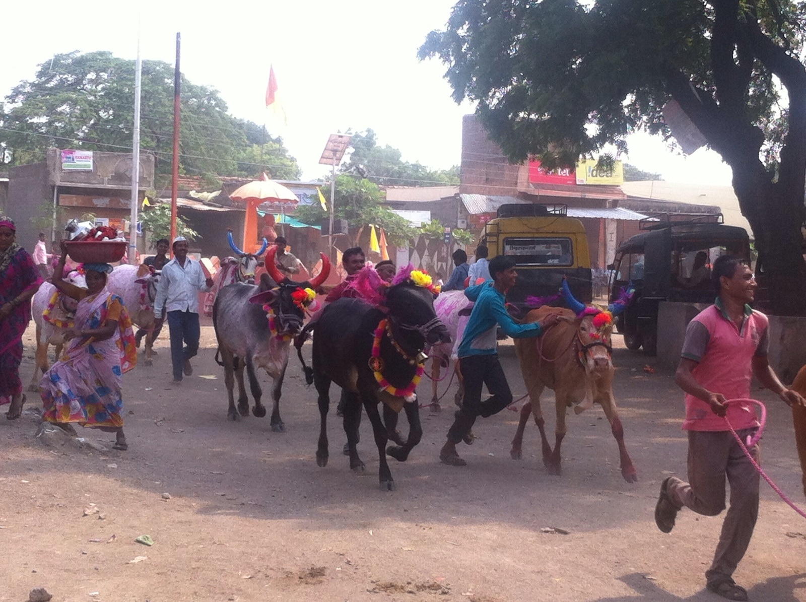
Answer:
[[[713,264],[711,280],[717,301],[689,323],[675,383],[686,392],[688,480],[670,476],[660,487],[655,522],[663,533],[675,526],[683,506],[716,516],[725,509],[725,476],[730,508],[713,563],[705,571],[706,587],[728,600],[747,600],[733,571],[745,555],[758,517],[758,472],[733,438],[725,418],[742,441],[758,428],[752,405],[728,403],[750,397],[756,376],[787,405],[804,405],[798,393],[781,384],[767,362],[767,316],[750,309],[756,283],[742,260],[723,255]],[[758,461],[758,445],[750,448]]]

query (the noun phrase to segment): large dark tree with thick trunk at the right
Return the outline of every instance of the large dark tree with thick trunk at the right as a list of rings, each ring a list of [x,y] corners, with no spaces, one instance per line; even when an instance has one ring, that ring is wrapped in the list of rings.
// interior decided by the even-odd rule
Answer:
[[[733,168],[773,313],[806,314],[804,2],[460,0],[420,57],[510,160],[547,168],[646,129],[674,100]]]

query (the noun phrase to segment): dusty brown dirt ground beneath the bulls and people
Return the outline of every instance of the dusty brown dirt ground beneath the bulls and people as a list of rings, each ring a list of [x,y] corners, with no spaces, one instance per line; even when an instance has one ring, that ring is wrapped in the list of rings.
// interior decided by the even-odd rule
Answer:
[[[684,474],[686,444],[679,391],[671,376],[644,372],[640,355],[615,352],[638,484],[621,479],[598,406],[569,417],[561,477],[546,475],[534,425],[524,459],[509,459],[517,423],[509,411],[477,423],[478,439],[459,450],[467,467],[444,466],[438,448],[453,412],[443,402],[440,414],[422,410],[423,441],[407,463],[390,460],[397,491],[381,492],[366,420],[359,445],[366,475],[348,470],[332,414],[330,464],[317,467],[315,392],[303,386],[296,359],[281,405],[287,432],[278,434],[268,417],[226,421],[210,327],[181,388],[168,384],[166,339],[157,345],[160,365],[141,364],[124,377],[126,452],[36,438],[39,403],[31,394],[22,420],[0,421],[0,600],[27,600],[33,587],[81,602],[721,600],[703,578],[721,518],[683,512],[669,535],[654,525],[659,482]],[[501,355],[520,396],[513,348]],[[32,369],[26,359],[23,380]],[[268,388],[268,377],[261,381]],[[428,387],[424,380],[423,400]],[[771,410],[764,464],[802,502],[788,410],[758,396]],[[80,435],[107,449],[113,441]],[[761,517],[734,575],[751,600],[806,600],[801,533],[804,519],[762,484]],[[155,544],[136,543],[142,534]]]

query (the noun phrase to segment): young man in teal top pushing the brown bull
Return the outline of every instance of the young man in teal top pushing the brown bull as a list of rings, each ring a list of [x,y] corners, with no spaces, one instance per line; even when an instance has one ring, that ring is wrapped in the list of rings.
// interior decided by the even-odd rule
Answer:
[[[439,451],[442,463],[465,466],[467,463],[456,453],[460,441],[472,442],[470,430],[477,416],[489,417],[512,403],[504,369],[498,361],[496,328],[512,338],[539,337],[549,326],[554,326],[559,317],[550,314],[540,322],[518,324],[507,313],[504,296],[515,284],[517,272],[515,260],[498,255],[490,261],[492,282],[485,282],[465,290],[465,296],[475,301],[462,343],[459,345],[459,370],[464,381],[462,409],[448,430],[447,442]],[[481,385],[486,384],[490,396],[481,401]]]

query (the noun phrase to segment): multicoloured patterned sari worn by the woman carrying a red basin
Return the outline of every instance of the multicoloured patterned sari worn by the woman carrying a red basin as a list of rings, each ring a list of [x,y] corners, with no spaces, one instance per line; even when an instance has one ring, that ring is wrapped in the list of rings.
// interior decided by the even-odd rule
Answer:
[[[79,301],[75,318],[78,328],[98,328],[107,319],[118,322],[110,338],[71,339],[62,358],[45,372],[39,383],[44,420],[123,426],[121,376],[137,362],[131,320],[120,297],[106,287]]]

